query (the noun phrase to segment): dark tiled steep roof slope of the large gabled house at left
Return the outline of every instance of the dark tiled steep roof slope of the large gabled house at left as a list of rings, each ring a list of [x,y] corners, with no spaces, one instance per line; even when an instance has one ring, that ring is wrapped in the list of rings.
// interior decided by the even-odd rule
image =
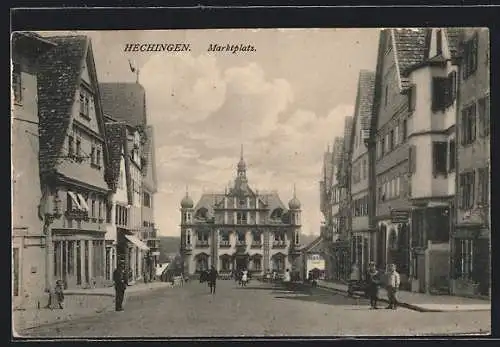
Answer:
[[[38,113],[40,171],[53,170],[66,139],[85,61],[86,36],[46,38],[56,46],[40,59]]]

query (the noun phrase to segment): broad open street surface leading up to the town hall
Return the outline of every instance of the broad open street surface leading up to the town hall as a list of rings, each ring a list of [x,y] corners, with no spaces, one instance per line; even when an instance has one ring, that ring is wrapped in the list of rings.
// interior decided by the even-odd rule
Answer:
[[[385,304],[381,303],[381,307]],[[25,337],[201,337],[427,335],[489,332],[491,312],[370,310],[364,299],[322,289],[287,292],[258,281],[219,281],[131,297],[123,312],[41,326]],[[328,317],[325,319],[325,317]]]

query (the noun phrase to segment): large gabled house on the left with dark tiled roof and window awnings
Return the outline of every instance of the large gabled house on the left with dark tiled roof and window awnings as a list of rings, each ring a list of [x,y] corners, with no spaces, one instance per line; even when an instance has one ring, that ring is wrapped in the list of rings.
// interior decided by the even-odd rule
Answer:
[[[108,153],[92,45],[56,36],[40,62],[40,177],[44,203],[61,206],[46,223],[47,282],[67,288],[105,281]],[[62,73],[64,71],[64,73]]]

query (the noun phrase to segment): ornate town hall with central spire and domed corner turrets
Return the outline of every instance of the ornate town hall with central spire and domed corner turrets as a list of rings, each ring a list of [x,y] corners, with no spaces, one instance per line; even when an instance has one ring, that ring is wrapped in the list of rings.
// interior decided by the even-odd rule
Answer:
[[[187,192],[181,201],[184,272],[214,266],[222,274],[245,268],[255,276],[286,269],[297,275],[300,215],[295,193],[287,209],[276,192],[250,188],[242,153],[232,187],[203,194],[196,205]]]

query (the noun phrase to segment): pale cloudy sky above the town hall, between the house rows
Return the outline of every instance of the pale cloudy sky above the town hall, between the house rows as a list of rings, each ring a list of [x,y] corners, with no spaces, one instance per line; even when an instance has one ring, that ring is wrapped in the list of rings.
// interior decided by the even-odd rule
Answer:
[[[92,38],[101,82],[146,89],[155,126],[156,224],[179,235],[186,185],[196,201],[224,190],[244,145],[253,188],[296,184],[303,231],[318,234],[322,155],[353,115],[360,69],[375,68],[378,29],[266,29],[79,32]],[[124,52],[126,43],[189,43],[190,52]],[[210,44],[251,44],[255,52],[207,52]]]

